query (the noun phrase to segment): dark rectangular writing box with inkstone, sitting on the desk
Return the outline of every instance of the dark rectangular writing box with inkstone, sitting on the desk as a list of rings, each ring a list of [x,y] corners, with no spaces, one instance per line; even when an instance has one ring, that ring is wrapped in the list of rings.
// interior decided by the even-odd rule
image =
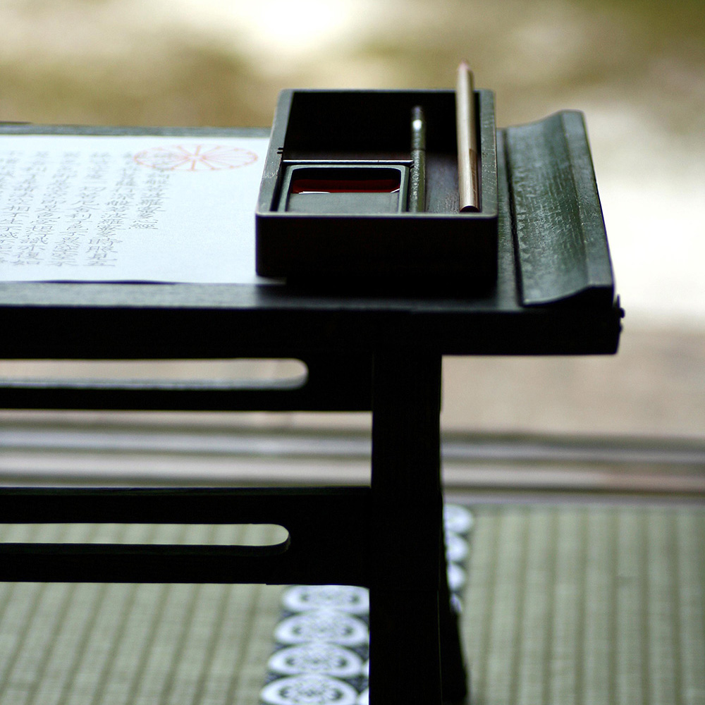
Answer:
[[[453,90],[282,91],[255,214],[257,274],[371,288],[494,286],[494,93],[473,97],[480,205],[461,213]],[[425,178],[412,212],[417,106]]]

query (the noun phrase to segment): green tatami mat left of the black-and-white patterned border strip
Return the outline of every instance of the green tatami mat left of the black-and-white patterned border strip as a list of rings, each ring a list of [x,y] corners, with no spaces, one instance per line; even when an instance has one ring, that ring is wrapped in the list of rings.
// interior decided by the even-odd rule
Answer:
[[[28,528],[8,527],[15,531],[5,540],[28,540]],[[99,537],[96,525],[68,527],[68,536],[57,525],[41,529],[32,540]],[[115,535],[123,529],[104,527],[99,540],[194,539],[185,527]],[[197,540],[243,539],[238,527],[217,530]],[[248,541],[266,541],[249,533]],[[280,594],[260,585],[0,584],[0,703],[256,704]]]

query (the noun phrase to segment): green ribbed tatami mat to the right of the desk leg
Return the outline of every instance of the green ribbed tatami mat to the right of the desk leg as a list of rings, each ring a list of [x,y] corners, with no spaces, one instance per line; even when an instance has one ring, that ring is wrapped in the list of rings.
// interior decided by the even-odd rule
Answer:
[[[705,511],[475,508],[476,705],[705,703]]]

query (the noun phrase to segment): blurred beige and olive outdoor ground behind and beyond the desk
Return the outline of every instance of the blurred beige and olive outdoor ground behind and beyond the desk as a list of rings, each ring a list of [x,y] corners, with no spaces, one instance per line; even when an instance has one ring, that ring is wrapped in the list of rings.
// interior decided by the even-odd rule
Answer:
[[[500,126],[584,111],[620,355],[448,362],[449,423],[705,436],[701,0],[1,0],[0,26],[3,121],[262,126],[282,88],[452,87],[462,58]]]

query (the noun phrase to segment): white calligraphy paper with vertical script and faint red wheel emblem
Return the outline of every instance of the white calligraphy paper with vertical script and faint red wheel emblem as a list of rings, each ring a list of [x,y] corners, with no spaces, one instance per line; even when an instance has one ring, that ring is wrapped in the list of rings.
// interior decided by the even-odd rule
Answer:
[[[0,135],[0,281],[267,283],[266,137]]]

